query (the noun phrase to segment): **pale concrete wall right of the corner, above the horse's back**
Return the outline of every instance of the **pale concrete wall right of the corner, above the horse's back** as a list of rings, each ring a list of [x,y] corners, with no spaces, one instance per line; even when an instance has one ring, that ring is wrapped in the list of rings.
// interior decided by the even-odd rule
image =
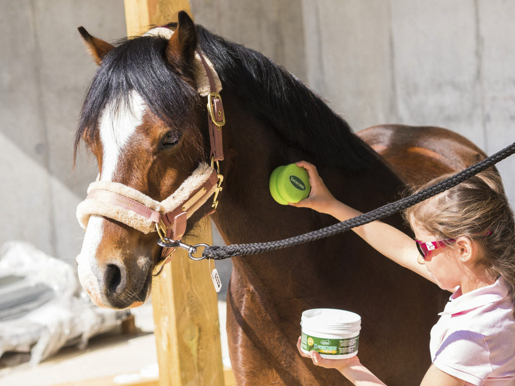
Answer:
[[[515,3],[303,1],[306,78],[355,130],[454,130],[488,154],[515,142]],[[498,164],[515,203],[515,156]]]

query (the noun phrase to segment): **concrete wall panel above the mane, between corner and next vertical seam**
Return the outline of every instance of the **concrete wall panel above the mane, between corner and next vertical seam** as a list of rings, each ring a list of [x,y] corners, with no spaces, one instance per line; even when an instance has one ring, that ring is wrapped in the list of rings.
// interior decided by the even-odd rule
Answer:
[[[303,2],[304,81],[359,129],[395,121],[388,2]]]

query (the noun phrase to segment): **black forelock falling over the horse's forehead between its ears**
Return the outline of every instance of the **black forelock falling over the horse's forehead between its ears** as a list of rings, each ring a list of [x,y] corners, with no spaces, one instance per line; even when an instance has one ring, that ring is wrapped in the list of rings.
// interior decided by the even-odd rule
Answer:
[[[74,159],[83,138],[95,143],[96,130],[109,106],[130,108],[133,92],[170,127],[195,125],[193,109],[198,95],[175,74],[165,59],[167,39],[143,36],[118,41],[102,60],[91,81],[75,134]]]

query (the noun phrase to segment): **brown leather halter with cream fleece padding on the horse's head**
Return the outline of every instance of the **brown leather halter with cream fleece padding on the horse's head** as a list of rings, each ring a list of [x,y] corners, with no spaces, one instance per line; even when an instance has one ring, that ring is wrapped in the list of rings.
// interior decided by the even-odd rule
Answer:
[[[156,27],[145,35],[170,39],[173,33],[168,28]],[[194,74],[197,92],[208,97],[211,165],[200,163],[191,176],[161,202],[118,182],[92,182],[88,187],[87,197],[77,206],[77,219],[82,229],[86,230],[91,215],[98,215],[122,222],[143,233],[157,231],[161,241],[169,243],[170,240],[181,240],[186,231],[186,220],[212,195],[212,210],[207,215],[215,212],[224,179],[218,163],[224,159],[221,127],[225,124],[225,115],[218,94],[222,86],[213,64],[204,57],[200,49],[195,51]],[[163,248],[154,274],[158,274],[163,265],[171,261],[174,251],[175,248]]]

